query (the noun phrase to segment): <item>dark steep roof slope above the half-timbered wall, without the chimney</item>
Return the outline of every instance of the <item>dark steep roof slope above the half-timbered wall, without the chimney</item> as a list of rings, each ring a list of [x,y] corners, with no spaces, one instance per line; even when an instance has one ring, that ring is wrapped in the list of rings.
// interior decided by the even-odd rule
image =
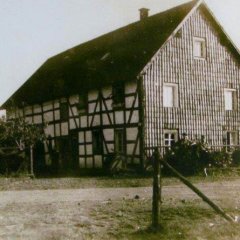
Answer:
[[[4,104],[40,103],[136,76],[193,8],[177,6],[48,59]]]

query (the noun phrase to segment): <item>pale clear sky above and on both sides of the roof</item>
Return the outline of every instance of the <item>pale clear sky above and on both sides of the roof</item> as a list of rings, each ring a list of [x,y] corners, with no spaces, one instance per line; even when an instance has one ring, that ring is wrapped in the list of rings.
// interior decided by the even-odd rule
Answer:
[[[49,57],[186,0],[0,0],[0,105]],[[240,1],[205,0],[240,48]],[[1,115],[1,113],[0,113]]]

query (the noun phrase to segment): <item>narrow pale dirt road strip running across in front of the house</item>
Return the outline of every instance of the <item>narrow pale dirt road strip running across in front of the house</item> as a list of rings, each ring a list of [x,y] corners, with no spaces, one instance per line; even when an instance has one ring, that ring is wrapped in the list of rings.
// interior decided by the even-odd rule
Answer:
[[[212,199],[233,195],[239,197],[240,180],[198,183],[196,186]],[[0,205],[9,203],[51,203],[51,202],[80,202],[106,201],[122,198],[133,199],[136,195],[150,198],[151,187],[135,188],[89,188],[89,189],[54,189],[54,190],[25,190],[0,191]],[[183,184],[163,187],[163,196],[167,198],[198,198],[195,193]]]

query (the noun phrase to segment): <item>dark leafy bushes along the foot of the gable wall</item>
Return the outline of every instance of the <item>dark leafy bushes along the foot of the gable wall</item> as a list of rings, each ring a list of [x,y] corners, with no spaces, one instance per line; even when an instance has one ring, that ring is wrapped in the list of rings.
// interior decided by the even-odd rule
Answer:
[[[181,139],[167,150],[165,160],[183,175],[195,175],[203,172],[204,168],[228,168],[240,166],[240,148],[233,153],[226,148],[209,151],[204,143]],[[169,172],[165,169],[165,173]]]

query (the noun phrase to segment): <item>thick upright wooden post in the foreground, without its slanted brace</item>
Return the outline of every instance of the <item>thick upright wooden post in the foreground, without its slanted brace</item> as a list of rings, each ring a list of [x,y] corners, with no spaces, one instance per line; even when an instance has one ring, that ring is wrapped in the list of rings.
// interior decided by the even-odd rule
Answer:
[[[161,200],[161,174],[160,156],[158,148],[153,153],[153,198],[152,198],[152,227],[157,229],[159,226],[160,200]]]

